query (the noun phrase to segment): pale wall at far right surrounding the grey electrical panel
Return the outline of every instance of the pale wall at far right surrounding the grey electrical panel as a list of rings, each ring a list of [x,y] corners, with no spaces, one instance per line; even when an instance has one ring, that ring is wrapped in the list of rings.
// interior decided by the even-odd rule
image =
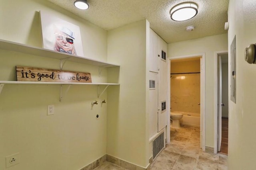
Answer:
[[[256,166],[254,130],[256,128],[256,65],[244,61],[244,49],[249,44],[256,43],[255,10],[255,1],[229,1],[229,54],[230,45],[236,35],[236,104],[229,98],[228,169],[230,170],[253,170]]]

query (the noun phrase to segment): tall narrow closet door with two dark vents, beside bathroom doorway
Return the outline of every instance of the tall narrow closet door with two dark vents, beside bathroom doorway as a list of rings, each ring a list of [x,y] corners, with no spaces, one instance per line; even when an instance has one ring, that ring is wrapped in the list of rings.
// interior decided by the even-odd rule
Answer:
[[[159,59],[158,59],[158,132],[167,126],[167,44],[159,37]]]

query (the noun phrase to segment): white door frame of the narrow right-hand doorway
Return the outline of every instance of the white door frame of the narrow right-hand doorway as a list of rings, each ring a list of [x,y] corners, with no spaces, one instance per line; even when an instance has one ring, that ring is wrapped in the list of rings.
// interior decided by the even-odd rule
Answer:
[[[218,152],[218,56],[226,53],[228,50],[214,52],[214,153]]]

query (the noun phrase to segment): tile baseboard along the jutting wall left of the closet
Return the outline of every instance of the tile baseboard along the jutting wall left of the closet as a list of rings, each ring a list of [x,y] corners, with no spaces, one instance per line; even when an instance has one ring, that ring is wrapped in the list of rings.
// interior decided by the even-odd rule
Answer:
[[[107,154],[107,161],[111,162],[112,164],[116,164],[118,166],[121,166],[122,168],[126,168],[129,170],[150,170],[150,164],[148,164],[148,166],[146,168],[138,166],[136,164],[132,164],[130,162],[127,162],[125,160],[116,158],[114,156],[111,156],[109,154]]]

